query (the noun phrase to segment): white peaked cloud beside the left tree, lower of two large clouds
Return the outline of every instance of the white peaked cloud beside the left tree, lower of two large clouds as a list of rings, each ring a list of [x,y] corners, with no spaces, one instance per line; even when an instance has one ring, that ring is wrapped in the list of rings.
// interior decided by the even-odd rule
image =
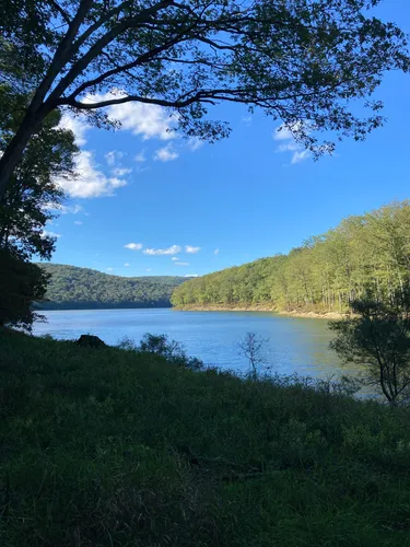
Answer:
[[[93,154],[86,150],[75,158],[75,173],[73,177],[59,177],[56,183],[75,198],[96,198],[113,196],[116,188],[126,186],[127,182],[118,177],[108,177],[98,171]]]

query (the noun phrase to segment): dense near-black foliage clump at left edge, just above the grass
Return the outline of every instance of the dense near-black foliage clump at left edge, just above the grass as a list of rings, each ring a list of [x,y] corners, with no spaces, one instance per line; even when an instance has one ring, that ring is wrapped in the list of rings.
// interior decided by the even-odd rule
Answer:
[[[42,318],[32,305],[44,299],[47,280],[42,268],[0,248],[0,326],[30,330],[33,321]]]

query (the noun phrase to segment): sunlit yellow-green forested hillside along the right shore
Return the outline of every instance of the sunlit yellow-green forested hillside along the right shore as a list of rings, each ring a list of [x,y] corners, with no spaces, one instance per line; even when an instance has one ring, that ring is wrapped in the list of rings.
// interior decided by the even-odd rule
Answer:
[[[313,236],[289,255],[189,280],[176,306],[342,311],[364,295],[389,302],[410,280],[410,202],[395,202]]]

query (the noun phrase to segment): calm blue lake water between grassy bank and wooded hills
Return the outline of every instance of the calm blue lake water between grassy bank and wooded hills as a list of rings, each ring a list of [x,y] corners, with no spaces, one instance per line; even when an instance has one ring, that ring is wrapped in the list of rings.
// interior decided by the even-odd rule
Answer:
[[[259,312],[176,312],[173,310],[81,310],[43,312],[48,323],[34,334],[73,339],[97,335],[109,345],[144,333],[166,334],[207,364],[247,370],[235,347],[248,331],[269,338],[265,360],[272,370],[311,376],[339,375],[340,361],[328,348],[332,334],[326,319],[296,318]],[[343,370],[343,372],[348,372]]]

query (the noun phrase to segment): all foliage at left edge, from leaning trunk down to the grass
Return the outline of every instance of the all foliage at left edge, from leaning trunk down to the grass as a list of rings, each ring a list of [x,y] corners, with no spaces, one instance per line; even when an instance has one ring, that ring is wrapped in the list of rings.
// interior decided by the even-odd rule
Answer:
[[[28,102],[26,94],[0,84],[0,155]],[[39,317],[32,306],[44,299],[48,276],[30,260],[33,255],[51,256],[56,238],[44,229],[63,198],[56,177],[73,176],[73,154],[78,151],[74,136],[59,128],[59,121],[60,114],[55,110],[34,131],[0,200],[0,325],[30,329]]]

